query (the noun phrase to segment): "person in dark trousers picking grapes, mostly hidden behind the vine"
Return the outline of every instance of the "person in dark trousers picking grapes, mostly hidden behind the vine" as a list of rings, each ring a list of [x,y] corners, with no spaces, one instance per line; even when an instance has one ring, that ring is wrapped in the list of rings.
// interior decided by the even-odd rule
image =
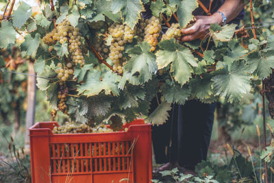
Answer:
[[[201,0],[201,3],[209,8],[210,1],[212,0]],[[212,15],[206,14],[201,7],[192,12],[195,23],[181,30],[181,40],[185,42],[204,38],[213,23],[239,25],[245,15],[244,3],[242,0],[214,0],[211,13]],[[153,106],[153,102],[151,105]],[[195,173],[195,166],[207,158],[215,107],[216,103],[201,103],[197,99],[186,101],[184,105],[174,104],[166,124],[152,127],[155,160],[157,163],[165,163],[153,173],[175,167],[185,173]],[[169,149],[168,153],[166,147]]]

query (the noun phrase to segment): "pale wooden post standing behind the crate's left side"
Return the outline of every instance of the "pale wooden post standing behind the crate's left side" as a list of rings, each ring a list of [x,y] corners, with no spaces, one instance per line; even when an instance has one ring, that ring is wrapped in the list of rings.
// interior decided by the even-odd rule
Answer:
[[[25,123],[25,148],[29,149],[29,127],[34,125],[36,102],[36,77],[34,72],[34,60],[29,60],[29,75],[27,77],[27,114]]]

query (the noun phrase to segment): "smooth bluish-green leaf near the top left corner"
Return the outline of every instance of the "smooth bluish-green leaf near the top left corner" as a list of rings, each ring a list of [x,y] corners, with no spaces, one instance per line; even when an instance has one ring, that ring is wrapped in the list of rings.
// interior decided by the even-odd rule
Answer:
[[[22,1],[21,5],[19,5],[18,8],[12,13],[13,25],[20,29],[31,15],[32,7]]]

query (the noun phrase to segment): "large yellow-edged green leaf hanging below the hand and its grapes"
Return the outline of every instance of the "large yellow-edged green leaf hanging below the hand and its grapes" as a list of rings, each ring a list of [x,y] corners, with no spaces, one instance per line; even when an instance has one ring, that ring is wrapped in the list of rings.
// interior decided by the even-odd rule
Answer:
[[[175,42],[175,39],[162,40],[158,45],[160,47],[156,53],[158,69],[171,63],[171,72],[175,80],[182,85],[188,82],[193,72],[191,66],[198,66],[190,50]]]

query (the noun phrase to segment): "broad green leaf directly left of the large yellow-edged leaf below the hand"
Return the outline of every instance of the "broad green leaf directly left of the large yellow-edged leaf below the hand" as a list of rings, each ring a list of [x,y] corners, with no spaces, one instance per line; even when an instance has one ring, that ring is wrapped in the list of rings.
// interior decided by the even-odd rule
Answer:
[[[127,51],[131,59],[125,65],[125,71],[131,72],[132,75],[138,73],[140,83],[151,80],[152,73],[157,71],[155,55],[149,52],[149,49],[147,42],[141,42]]]

